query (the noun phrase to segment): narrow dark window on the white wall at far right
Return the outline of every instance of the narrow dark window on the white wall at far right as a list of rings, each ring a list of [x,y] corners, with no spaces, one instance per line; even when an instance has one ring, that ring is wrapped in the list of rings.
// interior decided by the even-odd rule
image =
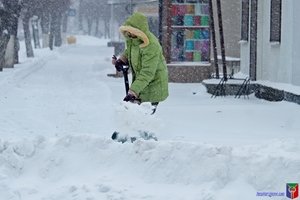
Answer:
[[[281,0],[271,0],[270,42],[281,41]]]

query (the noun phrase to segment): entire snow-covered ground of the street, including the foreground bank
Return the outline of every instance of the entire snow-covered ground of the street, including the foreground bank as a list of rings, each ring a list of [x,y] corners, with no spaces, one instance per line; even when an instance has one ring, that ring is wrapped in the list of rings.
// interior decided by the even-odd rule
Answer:
[[[299,105],[170,83],[141,117],[123,109],[123,79],[106,75],[107,41],[77,41],[32,59],[21,49],[0,73],[0,200],[288,199],[286,183],[300,182]],[[124,125],[159,141],[112,141]]]

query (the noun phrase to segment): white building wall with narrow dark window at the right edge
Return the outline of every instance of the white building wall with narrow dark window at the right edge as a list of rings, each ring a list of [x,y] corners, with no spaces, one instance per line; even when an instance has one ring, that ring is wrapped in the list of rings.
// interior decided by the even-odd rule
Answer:
[[[242,0],[241,72],[300,86],[298,0]]]

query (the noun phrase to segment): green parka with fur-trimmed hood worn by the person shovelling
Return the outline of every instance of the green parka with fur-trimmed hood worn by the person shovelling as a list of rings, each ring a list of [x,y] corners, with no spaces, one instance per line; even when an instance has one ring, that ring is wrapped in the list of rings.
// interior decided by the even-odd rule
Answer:
[[[157,38],[149,31],[147,17],[134,13],[120,27],[126,39],[123,54],[132,70],[132,90],[141,102],[160,102],[168,93],[168,70],[162,47]],[[128,37],[125,32],[137,36]]]

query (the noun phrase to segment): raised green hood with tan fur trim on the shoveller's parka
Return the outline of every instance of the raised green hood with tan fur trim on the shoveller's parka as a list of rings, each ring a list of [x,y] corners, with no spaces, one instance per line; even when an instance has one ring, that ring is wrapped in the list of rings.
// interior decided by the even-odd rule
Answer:
[[[148,20],[145,15],[139,12],[133,13],[125,23],[120,27],[120,32],[124,35],[124,32],[130,32],[136,35],[142,40],[141,48],[149,45],[149,26]]]

